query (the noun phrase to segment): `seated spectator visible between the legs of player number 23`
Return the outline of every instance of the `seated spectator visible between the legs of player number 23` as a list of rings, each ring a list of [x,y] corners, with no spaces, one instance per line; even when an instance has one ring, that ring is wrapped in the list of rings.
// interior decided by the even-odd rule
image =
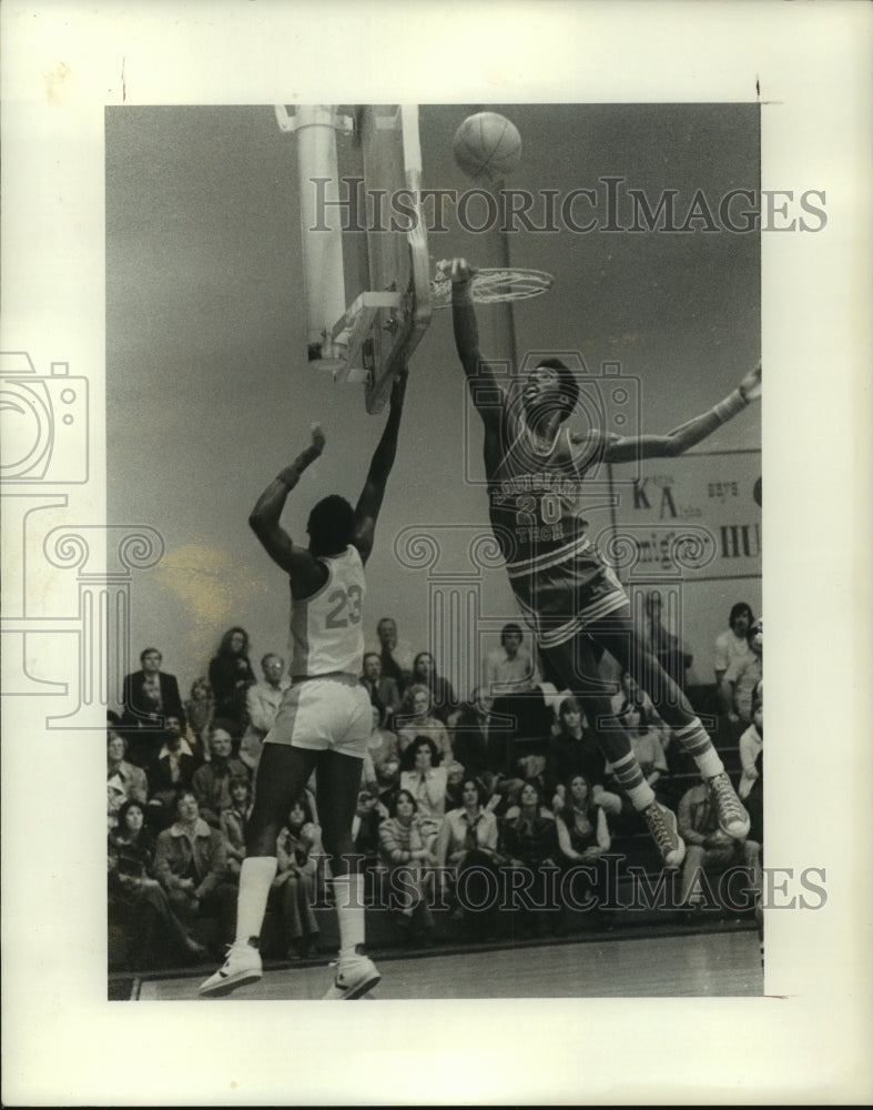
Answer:
[[[318,921],[313,906],[323,856],[322,830],[313,821],[306,798],[300,798],[291,807],[276,841],[276,877],[271,890],[282,916],[286,955],[292,960],[305,959],[317,945]]]

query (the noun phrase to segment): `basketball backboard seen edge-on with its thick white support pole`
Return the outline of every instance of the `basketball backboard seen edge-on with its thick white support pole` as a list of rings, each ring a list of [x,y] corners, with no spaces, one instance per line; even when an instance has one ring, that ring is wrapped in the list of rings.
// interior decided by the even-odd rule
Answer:
[[[377,413],[430,322],[418,109],[275,112],[297,148],[307,360]]]

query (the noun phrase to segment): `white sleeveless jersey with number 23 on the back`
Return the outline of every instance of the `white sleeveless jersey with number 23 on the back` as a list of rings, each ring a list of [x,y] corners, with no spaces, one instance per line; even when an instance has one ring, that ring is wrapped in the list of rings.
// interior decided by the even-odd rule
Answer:
[[[356,547],[318,559],[327,568],[322,588],[291,601],[290,674],[293,678],[361,674],[364,657],[364,564]]]

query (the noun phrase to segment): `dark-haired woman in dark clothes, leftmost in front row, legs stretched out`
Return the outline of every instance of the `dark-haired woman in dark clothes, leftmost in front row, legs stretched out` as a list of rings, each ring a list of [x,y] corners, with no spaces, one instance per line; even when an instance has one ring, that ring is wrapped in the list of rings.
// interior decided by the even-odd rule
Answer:
[[[200,959],[206,949],[183,928],[154,875],[155,842],[142,801],[130,798],[109,834],[109,915],[126,940],[128,968]]]

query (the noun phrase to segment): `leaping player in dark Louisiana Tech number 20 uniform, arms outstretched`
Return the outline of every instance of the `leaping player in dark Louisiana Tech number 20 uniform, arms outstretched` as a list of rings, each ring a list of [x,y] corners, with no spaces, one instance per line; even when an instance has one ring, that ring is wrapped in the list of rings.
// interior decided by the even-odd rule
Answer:
[[[439,268],[451,278],[455,343],[485,425],[491,527],[545,669],[582,702],[603,755],[667,864],[682,861],[684,845],[674,815],[654,800],[615,718],[598,670],[603,649],[649,695],[694,758],[721,828],[742,839],[749,816],[703,725],[649,650],[618,578],[586,536],[580,495],[586,473],[600,463],[669,457],[700,443],[760,395],[760,363],[714,408],[667,435],[619,436],[598,427],[575,434],[565,425],[579,395],[572,371],[558,359],[546,359],[506,390],[479,351],[470,291],[476,268],[465,259]]]

